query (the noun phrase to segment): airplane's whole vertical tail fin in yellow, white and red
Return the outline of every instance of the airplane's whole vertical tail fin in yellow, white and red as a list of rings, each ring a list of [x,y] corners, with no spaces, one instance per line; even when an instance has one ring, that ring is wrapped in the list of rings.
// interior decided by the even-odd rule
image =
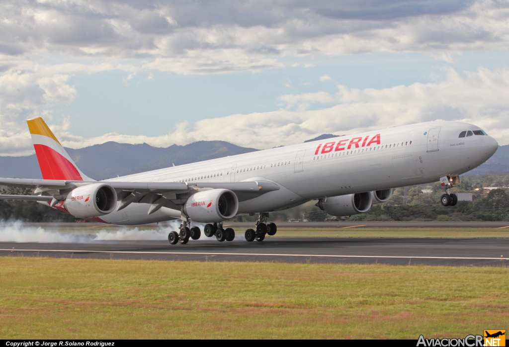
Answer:
[[[42,118],[26,121],[45,180],[93,181],[81,172]]]

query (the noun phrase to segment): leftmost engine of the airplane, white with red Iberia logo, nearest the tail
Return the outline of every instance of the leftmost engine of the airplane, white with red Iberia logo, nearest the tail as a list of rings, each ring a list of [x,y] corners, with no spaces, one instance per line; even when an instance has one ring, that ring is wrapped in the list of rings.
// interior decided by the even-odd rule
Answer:
[[[117,192],[106,184],[94,183],[73,189],[64,203],[65,209],[74,217],[93,218],[115,210]]]

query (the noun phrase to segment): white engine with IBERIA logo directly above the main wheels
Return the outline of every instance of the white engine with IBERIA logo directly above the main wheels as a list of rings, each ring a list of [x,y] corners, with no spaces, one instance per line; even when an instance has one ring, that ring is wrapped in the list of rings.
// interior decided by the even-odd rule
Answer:
[[[184,213],[195,222],[221,222],[235,217],[239,199],[228,189],[211,189],[197,192],[187,199]]]

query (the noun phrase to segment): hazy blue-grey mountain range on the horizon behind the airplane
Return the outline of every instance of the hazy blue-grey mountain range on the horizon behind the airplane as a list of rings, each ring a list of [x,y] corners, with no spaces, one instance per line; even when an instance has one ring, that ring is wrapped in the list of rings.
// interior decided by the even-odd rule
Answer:
[[[323,134],[312,140],[333,136],[335,135]],[[167,148],[152,147],[147,143],[128,144],[109,141],[81,149],[66,148],[66,150],[78,167],[87,176],[96,180],[258,151],[225,141],[197,141],[186,146],[174,144]],[[509,172],[509,145],[500,146],[493,157],[469,171],[468,175],[496,172]],[[42,178],[35,154],[26,157],[0,156],[0,177]]]

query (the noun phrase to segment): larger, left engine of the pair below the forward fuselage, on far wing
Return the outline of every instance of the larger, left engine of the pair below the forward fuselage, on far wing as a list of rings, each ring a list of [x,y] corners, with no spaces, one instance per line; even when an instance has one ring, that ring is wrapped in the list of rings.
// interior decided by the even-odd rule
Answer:
[[[318,200],[316,206],[332,216],[351,216],[369,211],[373,202],[371,192],[330,196]]]

